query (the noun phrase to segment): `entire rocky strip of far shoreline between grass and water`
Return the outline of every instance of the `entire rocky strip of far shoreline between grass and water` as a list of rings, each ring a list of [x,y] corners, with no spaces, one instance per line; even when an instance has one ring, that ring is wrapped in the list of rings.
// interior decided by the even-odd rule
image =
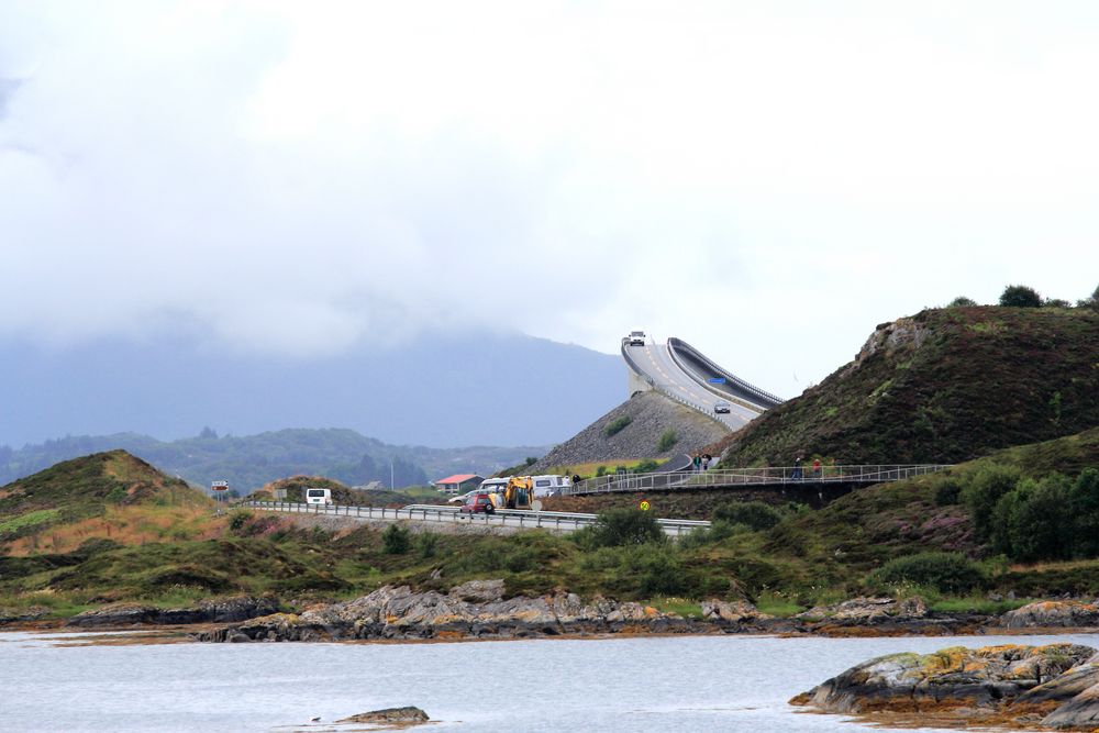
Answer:
[[[582,601],[575,593],[506,597],[502,580],[475,580],[449,590],[386,586],[362,598],[289,612],[274,598],[236,597],[190,608],[133,603],[87,611],[64,622],[88,630],[198,626],[203,642],[338,640],[506,640],[607,634],[778,634],[814,636],[954,636],[1099,630],[1099,601],[1041,601],[1001,615],[935,612],[919,598],[855,598],[788,618],[762,613],[746,600],[703,601],[701,613],[664,612],[632,601]],[[10,630],[62,622],[45,609],[0,613]],[[212,626],[212,628],[211,628]]]

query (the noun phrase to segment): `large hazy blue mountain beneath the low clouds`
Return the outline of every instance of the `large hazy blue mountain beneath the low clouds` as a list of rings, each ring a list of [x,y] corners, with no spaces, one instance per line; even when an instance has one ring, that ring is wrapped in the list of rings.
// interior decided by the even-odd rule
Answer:
[[[204,425],[235,435],[337,425],[435,447],[551,445],[625,390],[619,356],[449,331],[299,358],[245,356],[184,333],[64,349],[0,341],[0,446],[12,447],[60,435],[178,438]]]

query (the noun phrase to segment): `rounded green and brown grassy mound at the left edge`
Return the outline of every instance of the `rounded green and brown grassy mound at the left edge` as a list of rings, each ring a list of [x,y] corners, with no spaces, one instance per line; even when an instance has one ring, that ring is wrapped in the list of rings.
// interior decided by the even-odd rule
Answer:
[[[188,510],[209,513],[212,506],[186,482],[124,451],[99,453],[59,463],[0,488],[0,547],[37,548],[41,538],[51,543],[51,549],[70,549],[84,541],[85,533],[59,527],[81,523],[98,526],[106,514],[127,508],[170,507],[182,517]],[[115,533],[125,525],[116,518],[110,523]],[[89,532],[88,536],[95,534]]]

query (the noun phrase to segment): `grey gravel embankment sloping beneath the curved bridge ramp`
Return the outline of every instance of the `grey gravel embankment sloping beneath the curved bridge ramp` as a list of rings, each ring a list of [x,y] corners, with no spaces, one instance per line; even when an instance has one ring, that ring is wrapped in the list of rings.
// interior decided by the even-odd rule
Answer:
[[[662,448],[660,438],[669,431],[675,442]],[[659,392],[640,392],[554,447],[528,470],[537,473],[620,459],[670,458],[697,451],[728,434],[728,429],[717,420]]]

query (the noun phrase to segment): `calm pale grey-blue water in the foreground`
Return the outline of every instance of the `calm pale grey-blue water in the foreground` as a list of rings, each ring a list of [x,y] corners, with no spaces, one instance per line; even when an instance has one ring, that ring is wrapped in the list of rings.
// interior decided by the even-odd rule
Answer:
[[[964,644],[1099,648],[1099,635],[941,638],[697,636],[460,644],[60,647],[0,633],[0,730],[322,731],[414,704],[424,731],[846,731],[786,701],[866,658]],[[933,730],[933,729],[926,729]]]

